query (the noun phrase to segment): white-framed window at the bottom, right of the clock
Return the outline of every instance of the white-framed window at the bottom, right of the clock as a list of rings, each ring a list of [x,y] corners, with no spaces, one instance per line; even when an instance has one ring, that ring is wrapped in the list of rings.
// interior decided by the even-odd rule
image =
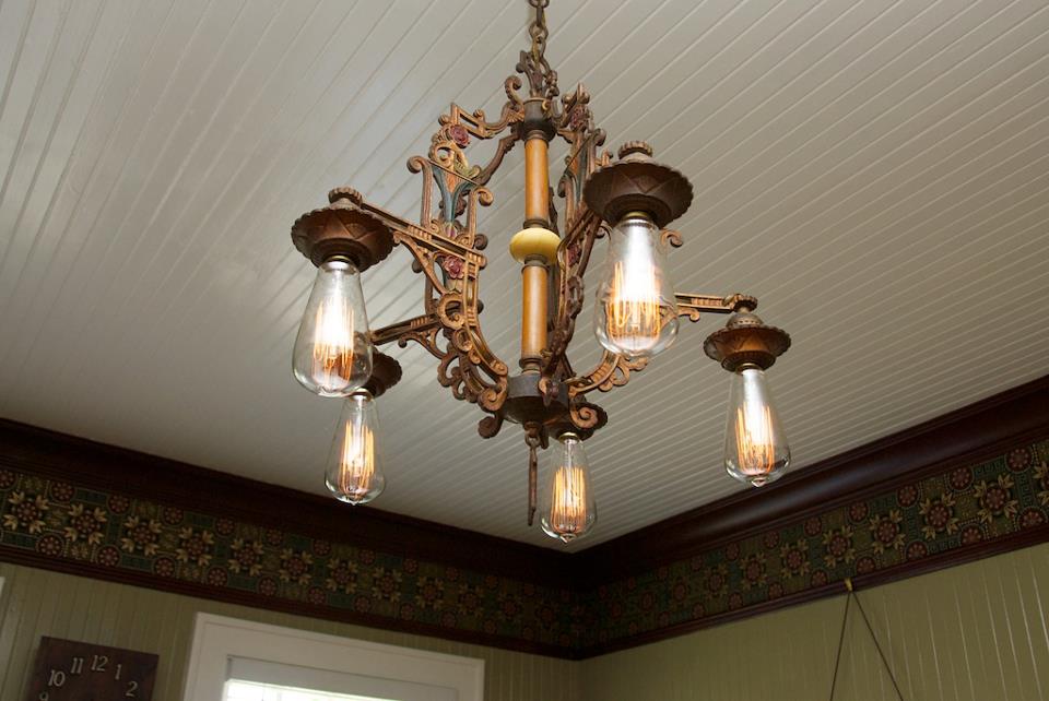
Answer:
[[[197,614],[186,701],[482,701],[484,661]]]

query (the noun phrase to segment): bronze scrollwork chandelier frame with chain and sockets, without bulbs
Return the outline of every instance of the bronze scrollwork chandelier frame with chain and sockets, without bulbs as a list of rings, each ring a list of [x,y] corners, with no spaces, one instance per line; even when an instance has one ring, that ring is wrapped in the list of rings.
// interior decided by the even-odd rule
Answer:
[[[587,401],[587,394],[626,384],[648,363],[605,353],[596,367],[578,371],[568,359],[593,246],[627,212],[643,212],[665,227],[684,214],[693,193],[685,176],[652,161],[652,148],[645,142],[626,142],[613,161],[603,148],[604,131],[594,126],[586,87],[561,95],[557,73],[545,58],[550,0],[528,2],[534,10],[531,46],[520,54],[520,76],[504,82],[506,103],[499,115],[490,120],[484,110],[452,104],[439,116],[426,155],[409,159],[409,170],[422,176],[417,218],[398,216],[353,189],[338,188],[329,195],[329,206],[295,222],[292,238],[315,264],[341,256],[361,270],[385,259],[392,246],[408,249],[412,270],[423,276],[423,313],[373,331],[373,343],[397,342],[403,347],[414,342],[433,355],[438,383],[484,412],[478,424],[482,438],[497,435],[506,421],[521,425],[529,447],[531,521],[537,450],[551,435],[592,436],[608,423],[608,414]],[[524,82],[528,92],[521,95]],[[568,144],[565,168],[556,180],[559,214],[547,162],[547,143],[558,138]],[[471,164],[470,144],[487,140],[496,140],[493,155],[487,163]],[[486,186],[519,141],[524,144],[524,226],[546,231],[517,239],[515,256],[523,262],[523,371],[511,377],[481,331],[480,275],[487,263],[483,252],[487,237],[479,230],[479,211],[492,204]],[[552,253],[554,237],[559,242]],[[679,233],[670,229],[663,230],[661,241],[682,245]],[[705,346],[707,355],[727,369],[744,361],[768,367],[789,345],[786,333],[759,320],[751,323],[757,306],[753,297],[679,294],[676,301],[679,317],[691,321],[705,312],[735,314]],[[399,378],[399,371],[392,380],[382,375],[388,369],[386,357],[375,354],[376,395]]]

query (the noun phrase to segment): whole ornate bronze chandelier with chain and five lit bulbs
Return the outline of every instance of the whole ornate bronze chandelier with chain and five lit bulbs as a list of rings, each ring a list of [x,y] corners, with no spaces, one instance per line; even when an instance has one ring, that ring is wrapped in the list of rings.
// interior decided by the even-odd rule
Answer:
[[[409,170],[423,179],[417,222],[387,212],[356,190],[337,188],[328,206],[292,226],[295,247],[318,269],[293,369],[311,392],[344,397],[326,484],[338,499],[365,503],[385,486],[375,400],[401,376],[398,363],[376,347],[417,343],[437,359],[437,381],[484,412],[478,426],[482,438],[492,438],[507,421],[523,429],[528,523],[539,509],[543,531],[567,543],[586,534],[597,516],[584,442],[608,415],[588,396],[626,384],[670,347],[680,319],[729,314],[724,328],[704,343],[707,356],[732,376],[726,470],[754,486],[781,475],[790,451],[765,370],[787,350],[790,337],[755,316],[752,296],[674,292],[665,256],[682,238],[667,227],[688,209],[692,185],[653,161],[644,142],[626,142],[614,159],[601,148],[605,134],[594,126],[586,88],[559,96],[557,73],[545,58],[547,3],[529,0],[531,47],[516,67],[528,95],[519,93],[521,78],[506,79],[507,100],[494,121],[481,109],[470,112],[452,104],[438,119],[428,153],[409,159]],[[493,139],[498,141],[491,159],[472,165],[470,144]],[[569,144],[557,198],[547,162],[554,139]],[[524,148],[524,219],[509,249],[521,264],[521,350],[519,370],[511,372],[481,331],[480,277],[488,239],[478,230],[478,213],[493,202],[485,186],[518,142]],[[561,216],[557,199],[564,203]],[[606,239],[608,252],[593,294],[594,335],[604,353],[596,367],[579,372],[567,350],[584,305],[584,274],[599,239]],[[423,276],[424,313],[372,330],[360,275],[397,245],[408,249],[413,272]],[[551,439],[559,448],[540,495],[537,453]]]

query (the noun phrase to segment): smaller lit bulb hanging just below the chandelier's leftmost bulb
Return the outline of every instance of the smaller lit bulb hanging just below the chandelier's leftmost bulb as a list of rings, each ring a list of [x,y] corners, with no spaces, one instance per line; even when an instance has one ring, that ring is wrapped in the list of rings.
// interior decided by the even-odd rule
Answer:
[[[357,390],[346,397],[325,472],[325,484],[335,499],[366,503],[386,487],[375,444],[378,429],[372,393]]]

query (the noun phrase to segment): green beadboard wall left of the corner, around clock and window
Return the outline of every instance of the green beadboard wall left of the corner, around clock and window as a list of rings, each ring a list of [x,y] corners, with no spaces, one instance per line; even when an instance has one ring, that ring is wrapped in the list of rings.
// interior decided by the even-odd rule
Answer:
[[[208,611],[374,642],[482,657],[487,701],[577,701],[578,663],[222,604],[0,562],[0,699],[22,701],[42,635],[160,654],[153,701],[181,701],[193,616]]]

